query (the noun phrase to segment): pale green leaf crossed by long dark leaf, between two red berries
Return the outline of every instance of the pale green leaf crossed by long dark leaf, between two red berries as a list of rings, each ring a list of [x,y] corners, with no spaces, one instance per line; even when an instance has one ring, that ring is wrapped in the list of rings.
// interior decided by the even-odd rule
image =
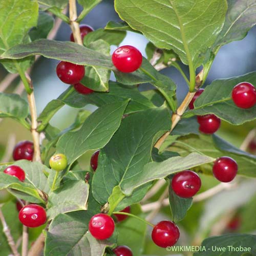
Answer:
[[[91,42],[87,47],[106,56],[110,55],[110,45],[102,39]],[[80,83],[94,91],[105,92],[109,90],[110,73],[109,69],[87,67],[86,76],[83,77]]]

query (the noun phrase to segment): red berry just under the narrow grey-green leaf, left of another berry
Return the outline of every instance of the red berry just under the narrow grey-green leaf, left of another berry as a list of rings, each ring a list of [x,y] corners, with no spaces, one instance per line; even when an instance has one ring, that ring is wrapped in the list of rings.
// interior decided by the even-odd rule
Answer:
[[[183,170],[183,172],[177,173],[172,180],[172,188],[179,197],[193,197],[200,187],[200,177],[191,170]]]

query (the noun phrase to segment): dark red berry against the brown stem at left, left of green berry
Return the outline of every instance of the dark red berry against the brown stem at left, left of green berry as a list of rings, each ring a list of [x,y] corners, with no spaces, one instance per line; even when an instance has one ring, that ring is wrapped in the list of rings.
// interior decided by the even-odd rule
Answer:
[[[12,157],[14,161],[26,159],[29,161],[33,160],[34,155],[34,144],[31,141],[25,140],[20,141],[14,147]]]

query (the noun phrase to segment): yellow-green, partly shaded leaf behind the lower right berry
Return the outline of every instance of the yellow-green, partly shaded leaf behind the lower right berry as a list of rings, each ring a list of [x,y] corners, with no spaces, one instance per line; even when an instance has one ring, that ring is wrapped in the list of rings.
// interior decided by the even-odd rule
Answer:
[[[230,147],[228,151],[226,151],[227,147]],[[172,144],[172,151],[178,152],[181,156],[195,151],[199,151],[213,158],[228,156],[238,163],[238,174],[256,177],[256,157],[246,152],[241,152],[238,148],[231,146],[216,135],[213,138],[208,135],[189,135],[181,137],[177,142]],[[200,166],[198,170],[205,174],[212,175],[212,165],[207,164]]]

